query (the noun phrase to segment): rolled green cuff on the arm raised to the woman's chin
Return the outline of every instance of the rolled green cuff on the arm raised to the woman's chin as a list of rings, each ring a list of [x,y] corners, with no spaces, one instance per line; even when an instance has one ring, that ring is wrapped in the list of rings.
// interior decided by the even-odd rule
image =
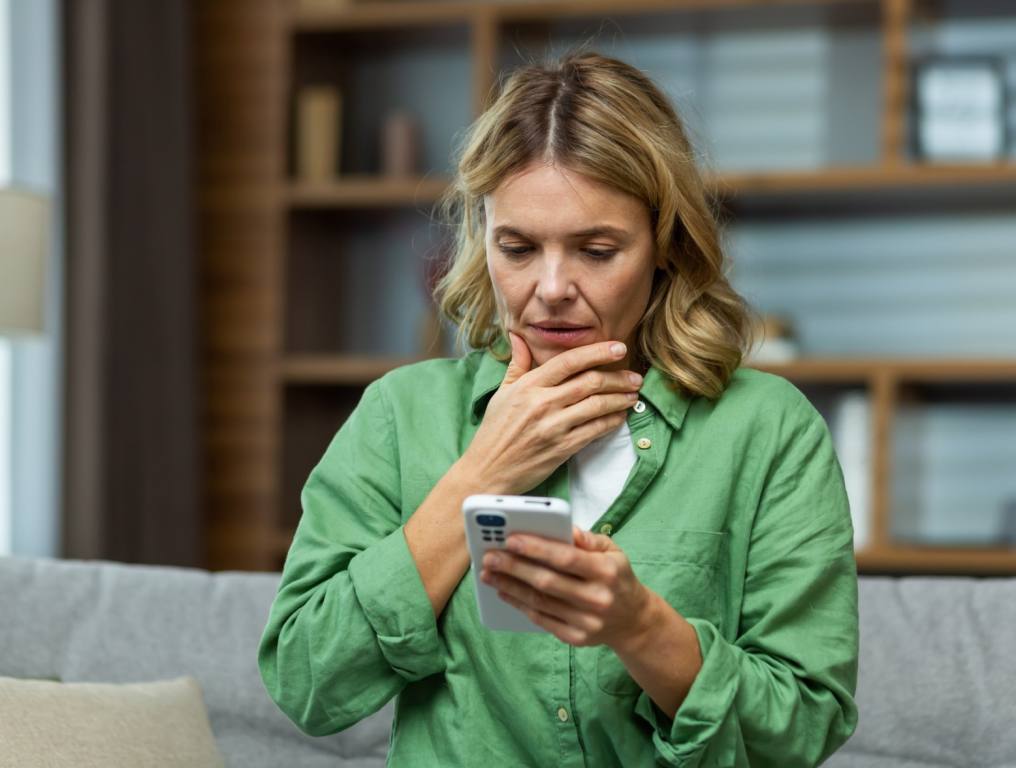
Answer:
[[[391,668],[410,682],[442,671],[437,619],[402,526],[357,554],[347,570]]]

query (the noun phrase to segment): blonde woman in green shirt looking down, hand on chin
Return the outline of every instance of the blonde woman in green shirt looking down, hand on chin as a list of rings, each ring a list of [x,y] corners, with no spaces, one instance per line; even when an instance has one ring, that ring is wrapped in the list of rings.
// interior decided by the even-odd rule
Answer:
[[[395,766],[812,766],[853,731],[853,531],[829,432],[740,368],[750,313],[666,99],[592,53],[471,127],[438,286],[473,351],[368,386],[311,472],[259,650],[331,733],[397,696]],[[509,360],[510,358],[510,360]],[[474,493],[572,502],[482,577]]]

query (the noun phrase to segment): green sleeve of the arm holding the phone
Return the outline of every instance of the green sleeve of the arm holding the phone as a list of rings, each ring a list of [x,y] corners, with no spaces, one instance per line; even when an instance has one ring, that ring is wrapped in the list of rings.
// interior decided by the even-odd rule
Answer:
[[[636,702],[664,765],[816,766],[856,727],[853,527],[828,427],[801,400],[765,467],[737,639],[689,618],[703,664],[676,716]]]

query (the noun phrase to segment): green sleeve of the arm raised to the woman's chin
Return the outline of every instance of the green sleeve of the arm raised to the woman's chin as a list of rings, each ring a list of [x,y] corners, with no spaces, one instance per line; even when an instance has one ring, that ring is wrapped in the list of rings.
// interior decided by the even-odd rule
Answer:
[[[375,381],[304,486],[258,648],[269,695],[308,733],[341,730],[444,669],[400,496],[394,425]]]

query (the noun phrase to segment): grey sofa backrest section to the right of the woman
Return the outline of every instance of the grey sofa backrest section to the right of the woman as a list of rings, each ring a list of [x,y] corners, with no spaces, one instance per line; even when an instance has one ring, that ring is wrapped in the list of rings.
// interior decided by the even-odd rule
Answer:
[[[858,729],[825,766],[1016,768],[1016,578],[862,576]]]

